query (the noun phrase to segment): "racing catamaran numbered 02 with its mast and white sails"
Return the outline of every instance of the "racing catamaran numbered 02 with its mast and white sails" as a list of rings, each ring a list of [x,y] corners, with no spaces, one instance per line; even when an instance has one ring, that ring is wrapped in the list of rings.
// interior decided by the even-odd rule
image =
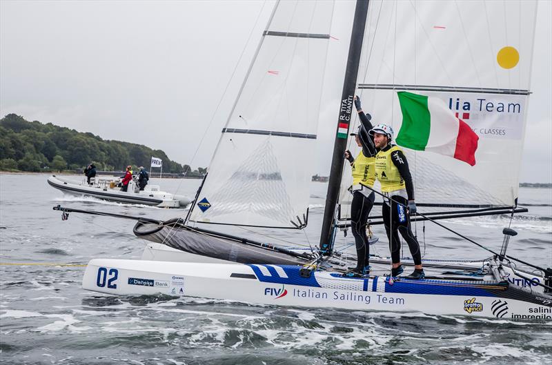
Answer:
[[[152,241],[143,259],[92,259],[83,288],[111,295],[552,320],[552,270],[507,254],[515,230],[503,230],[502,248],[495,252],[438,221],[526,211],[517,206],[517,189],[535,1],[357,1],[317,249],[284,248],[205,228],[308,224],[312,173],[305,166],[314,158],[309,151],[317,139],[333,6],[277,1],[186,218],[140,219],[135,234]],[[439,130],[438,120],[431,121],[424,146],[404,150],[422,211],[412,220],[460,235],[466,244],[490,251],[489,259],[426,259],[426,278],[407,279],[391,277],[388,258],[373,257],[371,275],[347,274],[346,262],[354,257],[335,250],[335,237],[348,226],[351,172],[343,152],[355,121],[357,89],[364,110],[395,130],[405,124],[398,92],[410,92],[448,106],[457,123],[477,134],[473,164],[444,147],[457,130]],[[432,135],[453,137],[439,144]],[[378,217],[371,219],[378,223]]]

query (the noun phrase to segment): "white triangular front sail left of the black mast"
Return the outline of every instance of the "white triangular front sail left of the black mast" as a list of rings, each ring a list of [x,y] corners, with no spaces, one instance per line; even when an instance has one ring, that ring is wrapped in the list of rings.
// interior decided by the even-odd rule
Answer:
[[[305,224],[332,13],[333,1],[276,4],[190,221]]]

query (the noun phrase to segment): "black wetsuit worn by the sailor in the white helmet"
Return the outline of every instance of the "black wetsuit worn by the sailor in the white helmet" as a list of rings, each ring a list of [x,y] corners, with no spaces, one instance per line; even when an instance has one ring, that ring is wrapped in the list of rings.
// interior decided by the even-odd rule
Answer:
[[[382,151],[389,150],[393,147],[392,145],[387,145]],[[399,173],[404,180],[404,185],[406,188],[406,195],[408,200],[414,199],[414,186],[412,184],[412,176],[410,175],[410,169],[408,169],[408,161],[404,153],[400,150],[395,150],[391,152],[391,161],[399,170]],[[392,195],[391,199],[399,202],[404,206],[408,206],[408,200],[400,195]],[[385,199],[388,201],[387,199]],[[382,215],[384,217],[384,226],[385,232],[387,233],[387,238],[389,239],[389,250],[391,250],[391,259],[393,264],[397,264],[401,261],[401,241],[399,238],[399,233],[402,235],[402,238],[408,244],[410,253],[414,260],[415,265],[422,264],[422,254],[420,253],[420,244],[410,227],[410,217],[406,208],[395,202],[391,202],[391,206],[388,206],[385,202],[382,206]]]

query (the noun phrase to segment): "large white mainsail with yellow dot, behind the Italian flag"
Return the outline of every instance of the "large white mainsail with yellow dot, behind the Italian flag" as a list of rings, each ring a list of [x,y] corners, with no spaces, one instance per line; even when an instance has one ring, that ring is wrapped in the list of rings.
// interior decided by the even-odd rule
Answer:
[[[536,1],[370,2],[357,95],[373,123],[397,137],[397,92],[408,91],[440,99],[479,137],[474,166],[404,148],[417,203],[516,204],[536,10]]]

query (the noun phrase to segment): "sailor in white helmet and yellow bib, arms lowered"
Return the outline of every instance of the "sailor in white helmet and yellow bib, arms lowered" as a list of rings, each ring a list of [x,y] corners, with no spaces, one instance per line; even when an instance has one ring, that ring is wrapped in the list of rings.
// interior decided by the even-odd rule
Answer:
[[[389,239],[389,249],[393,268],[391,276],[402,274],[401,243],[398,233],[408,243],[408,248],[414,260],[414,272],[408,275],[411,279],[425,277],[422,268],[420,244],[414,237],[408,213],[416,213],[414,201],[414,186],[408,169],[408,161],[399,146],[391,144],[393,128],[386,124],[377,124],[369,131],[373,136],[375,147],[379,150],[375,156],[375,177],[382,184],[382,193],[385,195],[382,206],[385,231]]]

